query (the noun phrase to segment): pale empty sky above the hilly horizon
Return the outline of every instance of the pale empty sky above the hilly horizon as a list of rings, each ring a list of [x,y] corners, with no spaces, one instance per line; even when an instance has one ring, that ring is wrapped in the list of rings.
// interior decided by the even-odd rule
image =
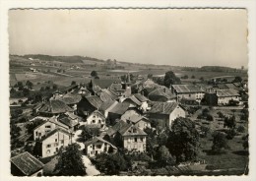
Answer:
[[[173,66],[247,67],[247,12],[9,10],[10,54],[81,55]]]

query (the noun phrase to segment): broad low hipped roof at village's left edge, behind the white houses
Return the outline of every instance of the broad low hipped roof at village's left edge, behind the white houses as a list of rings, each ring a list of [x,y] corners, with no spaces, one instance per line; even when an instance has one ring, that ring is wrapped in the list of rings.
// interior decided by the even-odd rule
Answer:
[[[45,113],[64,113],[68,111],[73,111],[73,109],[66,105],[63,101],[53,99],[49,100],[47,103],[41,106],[38,111]]]

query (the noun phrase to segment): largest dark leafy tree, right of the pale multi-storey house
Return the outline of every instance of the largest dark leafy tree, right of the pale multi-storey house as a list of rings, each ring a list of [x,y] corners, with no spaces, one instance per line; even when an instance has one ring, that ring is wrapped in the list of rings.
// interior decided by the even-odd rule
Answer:
[[[188,118],[177,118],[173,121],[166,147],[176,162],[196,160],[199,153],[199,133],[195,123]]]

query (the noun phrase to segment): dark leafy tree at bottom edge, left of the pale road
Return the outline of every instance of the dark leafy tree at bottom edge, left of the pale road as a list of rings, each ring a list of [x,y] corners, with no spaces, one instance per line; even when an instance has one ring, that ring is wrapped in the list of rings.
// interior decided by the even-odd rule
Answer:
[[[65,151],[59,152],[58,162],[54,170],[58,170],[61,176],[84,176],[86,166],[84,165],[82,153],[78,144],[69,145]]]

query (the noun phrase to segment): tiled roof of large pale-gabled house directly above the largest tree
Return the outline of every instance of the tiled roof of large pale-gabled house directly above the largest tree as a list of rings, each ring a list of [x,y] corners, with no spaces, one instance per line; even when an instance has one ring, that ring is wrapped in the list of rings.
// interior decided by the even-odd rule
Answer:
[[[177,102],[152,102],[149,113],[170,114],[178,106]]]

